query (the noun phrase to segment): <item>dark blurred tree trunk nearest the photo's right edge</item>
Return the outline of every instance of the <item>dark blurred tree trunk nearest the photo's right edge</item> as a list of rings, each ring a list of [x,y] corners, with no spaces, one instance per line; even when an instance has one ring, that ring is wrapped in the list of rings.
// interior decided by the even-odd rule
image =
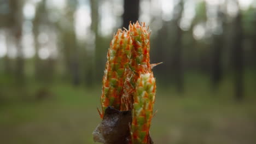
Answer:
[[[238,2],[237,2],[238,3]],[[243,29],[242,29],[242,14],[238,12],[234,25],[234,37],[232,39],[232,66],[234,70],[235,79],[235,98],[237,100],[243,99]]]

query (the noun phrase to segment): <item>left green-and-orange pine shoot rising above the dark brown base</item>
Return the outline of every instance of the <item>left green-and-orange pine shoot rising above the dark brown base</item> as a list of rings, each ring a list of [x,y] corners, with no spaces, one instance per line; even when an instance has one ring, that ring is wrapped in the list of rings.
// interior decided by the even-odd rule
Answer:
[[[123,95],[125,70],[129,68],[132,39],[129,31],[118,30],[113,36],[107,53],[101,95],[102,112],[108,106],[120,110]],[[104,113],[102,113],[103,116]]]

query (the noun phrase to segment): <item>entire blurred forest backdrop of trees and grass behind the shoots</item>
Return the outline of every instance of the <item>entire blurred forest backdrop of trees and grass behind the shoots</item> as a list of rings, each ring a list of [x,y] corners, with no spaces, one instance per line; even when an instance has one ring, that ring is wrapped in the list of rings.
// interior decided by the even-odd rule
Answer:
[[[110,40],[152,29],[155,143],[256,143],[256,1],[0,0],[0,143],[94,143]]]

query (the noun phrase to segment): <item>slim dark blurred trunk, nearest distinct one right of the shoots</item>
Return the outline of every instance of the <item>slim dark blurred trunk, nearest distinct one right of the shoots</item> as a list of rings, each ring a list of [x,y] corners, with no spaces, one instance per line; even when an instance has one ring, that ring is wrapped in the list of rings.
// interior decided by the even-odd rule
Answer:
[[[184,71],[183,71],[183,58],[182,58],[182,29],[179,27],[179,21],[181,20],[182,13],[183,13],[183,0],[181,0],[177,7],[180,7],[181,10],[177,15],[177,19],[175,20],[176,23],[176,41],[174,42],[174,52],[173,52],[173,65],[174,65],[174,76],[176,81],[176,87],[178,92],[184,91]]]

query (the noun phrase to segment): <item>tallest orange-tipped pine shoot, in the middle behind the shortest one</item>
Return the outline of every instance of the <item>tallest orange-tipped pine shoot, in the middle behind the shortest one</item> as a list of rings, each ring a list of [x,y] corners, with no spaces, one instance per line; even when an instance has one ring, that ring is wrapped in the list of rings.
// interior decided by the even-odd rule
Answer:
[[[130,59],[130,69],[126,70],[127,79],[124,87],[124,94],[121,98],[121,110],[131,110],[133,105],[130,101],[133,99],[136,82],[139,75],[151,72],[149,50],[150,50],[150,32],[149,27],[143,22],[139,25],[138,21],[135,24],[129,25],[129,32],[132,38],[132,49]]]

